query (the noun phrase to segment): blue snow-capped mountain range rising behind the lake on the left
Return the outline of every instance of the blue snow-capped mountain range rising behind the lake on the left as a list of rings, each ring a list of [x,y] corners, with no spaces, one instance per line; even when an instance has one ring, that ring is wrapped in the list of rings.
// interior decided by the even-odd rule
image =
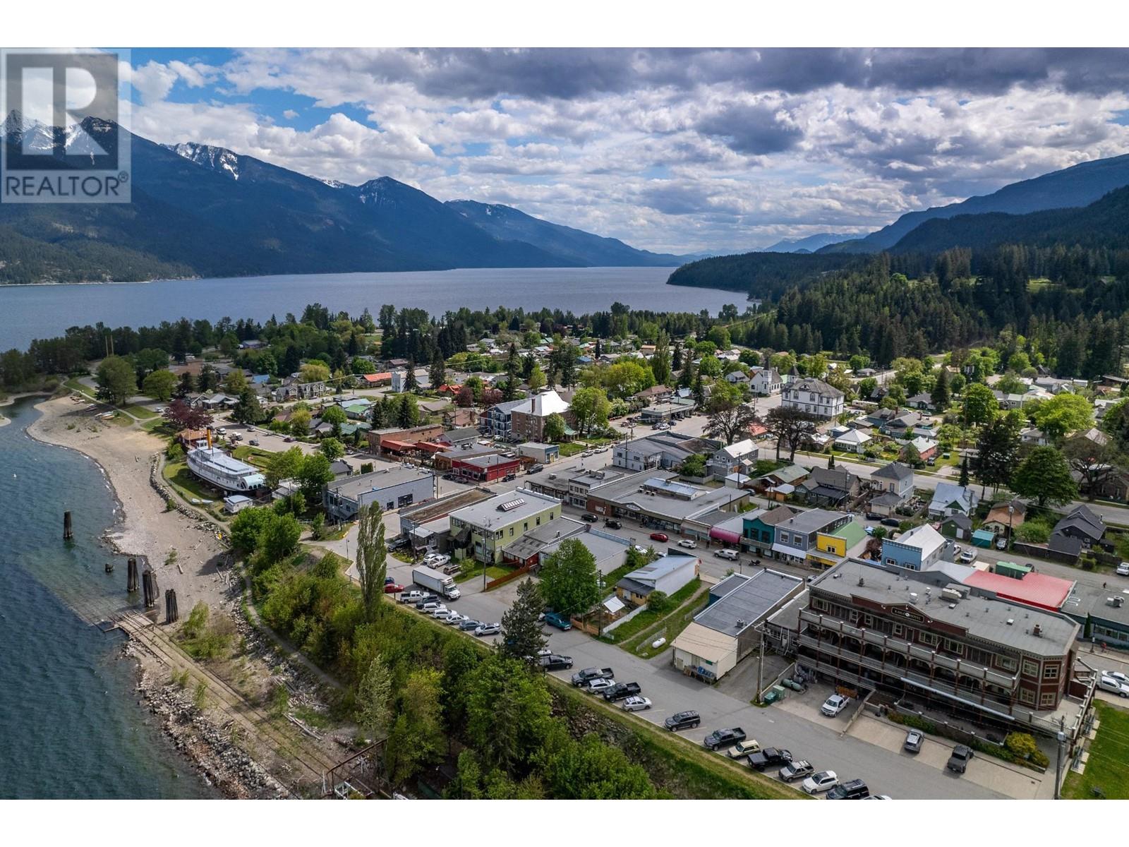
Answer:
[[[97,143],[120,130],[81,129]],[[10,146],[51,137],[16,113],[2,131]],[[444,203],[387,176],[348,185],[224,148],[124,138],[132,202],[0,204],[0,282],[686,261],[505,206]]]

